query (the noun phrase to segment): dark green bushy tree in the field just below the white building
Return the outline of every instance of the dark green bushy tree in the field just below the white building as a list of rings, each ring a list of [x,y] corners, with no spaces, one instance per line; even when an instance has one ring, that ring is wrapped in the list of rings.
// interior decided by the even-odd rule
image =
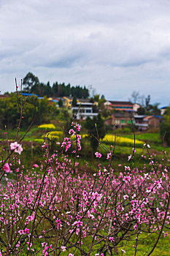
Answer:
[[[85,121],[85,128],[88,130],[88,138],[90,139],[90,145],[93,148],[94,152],[98,147],[98,140],[96,138],[100,140],[104,138],[106,134],[104,120],[101,118],[100,114],[98,114],[98,116],[95,116],[93,119],[88,117]]]

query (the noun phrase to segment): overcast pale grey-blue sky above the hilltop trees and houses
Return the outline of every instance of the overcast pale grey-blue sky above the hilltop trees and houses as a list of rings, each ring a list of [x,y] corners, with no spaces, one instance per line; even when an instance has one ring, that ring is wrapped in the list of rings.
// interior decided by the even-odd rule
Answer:
[[[169,0],[0,0],[0,91],[30,71],[107,99],[139,91],[169,105],[169,12]]]

